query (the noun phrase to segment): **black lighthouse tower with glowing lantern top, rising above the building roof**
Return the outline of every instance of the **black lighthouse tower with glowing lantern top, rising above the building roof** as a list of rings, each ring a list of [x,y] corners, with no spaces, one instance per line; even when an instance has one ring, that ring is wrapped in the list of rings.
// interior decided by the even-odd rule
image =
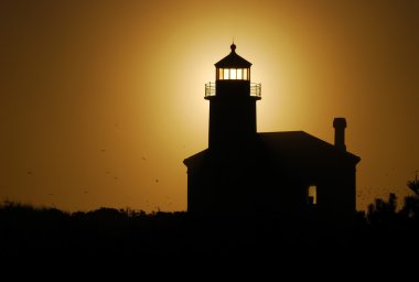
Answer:
[[[215,84],[205,85],[210,100],[210,149],[230,149],[247,143],[257,134],[256,101],[260,84],[250,83],[251,63],[232,52],[215,64]]]

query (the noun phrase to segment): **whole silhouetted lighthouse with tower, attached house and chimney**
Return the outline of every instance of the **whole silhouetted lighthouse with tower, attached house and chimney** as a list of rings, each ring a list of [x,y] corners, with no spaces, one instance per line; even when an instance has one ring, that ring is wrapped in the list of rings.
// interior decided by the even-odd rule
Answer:
[[[356,164],[346,150],[346,119],[336,118],[335,144],[304,131],[258,132],[251,63],[236,53],[215,63],[208,148],[186,158],[187,213],[275,215],[350,223],[356,207]]]

